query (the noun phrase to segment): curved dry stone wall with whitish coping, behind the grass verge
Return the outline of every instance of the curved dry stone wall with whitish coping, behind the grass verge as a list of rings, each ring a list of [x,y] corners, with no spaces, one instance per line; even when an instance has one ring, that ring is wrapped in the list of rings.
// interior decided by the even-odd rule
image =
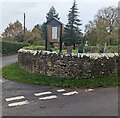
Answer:
[[[119,55],[64,54],[20,49],[18,60],[24,70],[32,73],[80,79],[117,75]]]

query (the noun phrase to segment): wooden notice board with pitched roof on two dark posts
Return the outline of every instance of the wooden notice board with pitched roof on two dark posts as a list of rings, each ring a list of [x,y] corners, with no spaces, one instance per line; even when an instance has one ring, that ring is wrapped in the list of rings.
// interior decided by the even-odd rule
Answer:
[[[56,18],[52,18],[45,23],[46,25],[46,39],[45,50],[48,50],[48,43],[54,47],[59,44],[59,50],[62,52],[62,30],[63,24]]]

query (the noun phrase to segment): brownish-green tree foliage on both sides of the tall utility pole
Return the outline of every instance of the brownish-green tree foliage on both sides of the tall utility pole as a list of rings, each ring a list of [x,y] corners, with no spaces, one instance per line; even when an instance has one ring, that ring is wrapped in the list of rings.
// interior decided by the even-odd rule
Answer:
[[[14,23],[10,23],[2,33],[4,41],[26,42],[30,45],[44,45],[44,35],[44,24],[37,24],[33,27],[32,31],[25,29],[24,37],[23,26],[18,20]]]

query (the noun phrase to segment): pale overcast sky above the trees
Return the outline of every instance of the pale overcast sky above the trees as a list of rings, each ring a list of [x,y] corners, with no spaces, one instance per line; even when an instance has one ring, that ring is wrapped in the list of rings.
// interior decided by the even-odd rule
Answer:
[[[119,0],[76,0],[77,8],[80,12],[82,21],[81,29],[84,30],[85,24],[93,20],[99,9],[118,6]],[[34,25],[42,24],[46,21],[46,14],[51,6],[54,6],[59,13],[60,21],[67,23],[67,15],[73,0],[0,0],[1,16],[0,33],[8,26],[10,22],[19,20],[23,24],[23,14],[26,14],[26,27],[31,30]],[[2,20],[1,20],[2,19]]]

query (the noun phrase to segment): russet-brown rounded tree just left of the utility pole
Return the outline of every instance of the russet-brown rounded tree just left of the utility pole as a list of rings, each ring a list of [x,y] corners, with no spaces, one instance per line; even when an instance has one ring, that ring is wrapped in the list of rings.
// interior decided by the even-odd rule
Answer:
[[[23,41],[23,27],[17,20],[14,23],[10,23],[9,26],[2,33],[3,39],[10,41]]]

